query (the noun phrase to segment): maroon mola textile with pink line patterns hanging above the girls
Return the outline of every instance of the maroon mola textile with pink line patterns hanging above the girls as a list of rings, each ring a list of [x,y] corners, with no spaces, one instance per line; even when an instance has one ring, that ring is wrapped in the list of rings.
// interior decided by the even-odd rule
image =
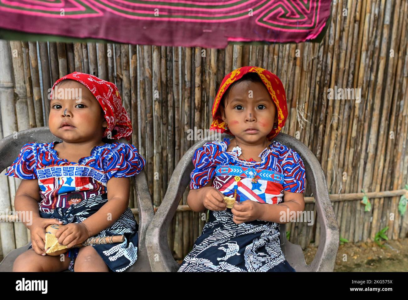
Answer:
[[[320,42],[330,0],[0,0],[0,38],[224,48]]]

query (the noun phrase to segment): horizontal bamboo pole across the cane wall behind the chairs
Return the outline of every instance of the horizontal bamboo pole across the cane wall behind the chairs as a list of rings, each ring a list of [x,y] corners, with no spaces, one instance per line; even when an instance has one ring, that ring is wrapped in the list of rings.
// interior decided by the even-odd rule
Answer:
[[[408,193],[408,190],[401,189],[401,190],[386,190],[383,192],[370,192],[366,193],[368,199],[376,199],[376,198],[386,198],[386,197],[397,197]],[[330,200],[332,202],[338,201],[353,201],[353,200],[361,200],[364,197],[364,193],[350,193],[350,194],[332,194],[329,195]],[[305,197],[305,203],[314,203],[314,197]],[[157,211],[158,207],[155,207],[155,212]],[[139,210],[137,208],[131,208],[133,215],[138,215]],[[177,206],[177,211],[190,211],[191,208],[188,205],[179,205]],[[0,215],[0,222],[17,222],[18,217],[16,215],[9,215],[8,221],[4,221],[6,218],[5,215]]]

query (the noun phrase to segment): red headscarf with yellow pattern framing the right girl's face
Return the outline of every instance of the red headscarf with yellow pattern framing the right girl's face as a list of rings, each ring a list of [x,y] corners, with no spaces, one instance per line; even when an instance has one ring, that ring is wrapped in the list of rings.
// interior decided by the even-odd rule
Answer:
[[[288,116],[288,107],[286,105],[286,94],[282,82],[280,81],[278,76],[266,69],[263,69],[261,67],[247,66],[233,70],[222,80],[220,89],[217,92],[217,96],[215,96],[213,104],[213,123],[211,124],[210,130],[216,130],[221,133],[226,132],[233,135],[227,128],[227,124],[225,124],[225,122],[222,120],[221,112],[219,109],[220,101],[222,95],[224,95],[224,93],[232,83],[242,78],[242,76],[244,76],[245,74],[251,72],[257,73],[259,75],[262,83],[264,83],[269,94],[271,94],[272,101],[273,103],[275,103],[277,108],[277,126],[276,128],[272,128],[271,132],[268,134],[268,140],[273,139],[285,125],[286,117]]]

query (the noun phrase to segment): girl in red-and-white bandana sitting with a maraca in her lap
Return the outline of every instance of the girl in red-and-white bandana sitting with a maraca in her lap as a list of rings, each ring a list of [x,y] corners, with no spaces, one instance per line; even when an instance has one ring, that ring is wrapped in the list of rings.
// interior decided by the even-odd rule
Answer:
[[[138,174],[145,160],[135,146],[106,143],[132,134],[118,88],[73,72],[55,82],[51,95],[49,129],[62,142],[24,145],[6,173],[23,179],[16,210],[32,211],[26,224],[31,245],[13,271],[124,271],[137,259],[138,242],[126,177]],[[45,253],[44,228],[50,224],[63,225],[55,237],[68,248],[89,237],[124,235],[125,240],[72,248],[62,259]]]

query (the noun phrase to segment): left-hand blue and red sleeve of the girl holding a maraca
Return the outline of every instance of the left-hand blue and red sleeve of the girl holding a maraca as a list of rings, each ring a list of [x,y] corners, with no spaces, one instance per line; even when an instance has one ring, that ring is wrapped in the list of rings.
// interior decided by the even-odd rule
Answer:
[[[20,155],[7,169],[7,176],[21,179],[36,179],[35,175],[35,144],[25,144],[21,148]]]

